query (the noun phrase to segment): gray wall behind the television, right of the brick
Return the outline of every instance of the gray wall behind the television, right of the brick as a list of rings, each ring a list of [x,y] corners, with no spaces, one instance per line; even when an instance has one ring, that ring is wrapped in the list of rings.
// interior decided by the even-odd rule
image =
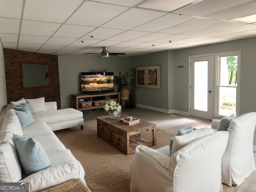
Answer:
[[[71,95],[80,94],[80,72],[114,72],[132,74],[129,57],[58,56],[61,108],[71,107]],[[115,85],[118,89],[118,86]],[[129,88],[129,87],[128,87]]]

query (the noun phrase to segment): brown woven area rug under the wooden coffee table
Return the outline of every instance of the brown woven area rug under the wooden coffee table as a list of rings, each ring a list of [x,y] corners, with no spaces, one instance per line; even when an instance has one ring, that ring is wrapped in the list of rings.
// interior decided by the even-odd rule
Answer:
[[[84,130],[80,127],[55,131],[55,134],[72,154],[79,160],[85,170],[85,180],[92,192],[129,192],[130,164],[134,154],[126,155],[97,136],[97,122],[84,123]],[[169,144],[173,135],[162,130],[156,130],[157,149]],[[152,132],[141,134],[141,137],[152,139]],[[210,179],[210,178],[209,178]],[[224,192],[237,192],[240,186],[226,186]]]

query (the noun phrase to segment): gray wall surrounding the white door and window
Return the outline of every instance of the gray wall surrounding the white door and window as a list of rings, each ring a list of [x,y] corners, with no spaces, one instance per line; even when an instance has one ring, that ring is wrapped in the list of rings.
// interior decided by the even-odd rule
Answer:
[[[240,115],[256,112],[256,38],[174,51],[174,109],[188,112],[188,57],[241,50]],[[184,65],[184,68],[177,68]],[[254,132],[256,145],[256,131]]]

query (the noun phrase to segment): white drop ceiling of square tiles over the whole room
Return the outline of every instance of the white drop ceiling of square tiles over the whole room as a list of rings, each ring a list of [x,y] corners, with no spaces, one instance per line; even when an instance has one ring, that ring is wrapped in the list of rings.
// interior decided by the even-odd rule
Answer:
[[[136,56],[251,37],[256,0],[0,0],[8,49]]]

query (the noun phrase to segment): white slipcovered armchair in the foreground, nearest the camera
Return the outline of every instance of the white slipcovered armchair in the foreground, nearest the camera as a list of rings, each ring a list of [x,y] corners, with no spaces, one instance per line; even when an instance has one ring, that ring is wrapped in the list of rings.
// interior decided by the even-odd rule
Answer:
[[[222,192],[221,158],[227,142],[228,132],[220,131],[172,155],[169,146],[154,150],[138,145],[131,164],[130,192]]]

